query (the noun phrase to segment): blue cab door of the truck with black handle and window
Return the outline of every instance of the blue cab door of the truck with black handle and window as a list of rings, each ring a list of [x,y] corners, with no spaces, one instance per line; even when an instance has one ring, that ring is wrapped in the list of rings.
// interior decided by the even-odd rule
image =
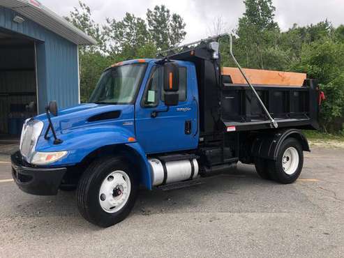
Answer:
[[[163,99],[163,66],[151,69],[140,103],[136,105],[136,138],[146,153],[195,149],[198,144],[197,101],[188,66],[179,66],[179,103]]]

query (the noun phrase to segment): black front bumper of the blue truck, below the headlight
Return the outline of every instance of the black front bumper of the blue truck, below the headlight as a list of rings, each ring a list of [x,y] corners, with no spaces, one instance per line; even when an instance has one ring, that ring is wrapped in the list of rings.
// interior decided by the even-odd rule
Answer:
[[[10,156],[12,176],[18,187],[31,195],[57,195],[66,174],[66,167],[31,167],[22,159],[20,151]]]

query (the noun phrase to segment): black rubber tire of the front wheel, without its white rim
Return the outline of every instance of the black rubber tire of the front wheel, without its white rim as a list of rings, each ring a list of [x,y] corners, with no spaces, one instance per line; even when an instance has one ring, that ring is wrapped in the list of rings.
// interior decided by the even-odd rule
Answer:
[[[100,206],[99,191],[104,179],[116,170],[125,172],[130,179],[128,201],[115,213],[108,213]],[[86,169],[77,185],[77,206],[86,220],[100,227],[110,227],[124,220],[135,204],[139,180],[135,169],[124,158],[107,157],[95,160]]]

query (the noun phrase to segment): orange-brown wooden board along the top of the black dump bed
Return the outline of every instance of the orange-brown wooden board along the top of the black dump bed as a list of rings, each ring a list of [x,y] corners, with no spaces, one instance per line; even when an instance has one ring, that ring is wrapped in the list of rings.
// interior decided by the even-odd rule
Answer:
[[[289,73],[274,70],[243,69],[251,84],[302,86],[306,73]],[[223,75],[230,75],[233,84],[247,84],[239,68],[224,67]]]

